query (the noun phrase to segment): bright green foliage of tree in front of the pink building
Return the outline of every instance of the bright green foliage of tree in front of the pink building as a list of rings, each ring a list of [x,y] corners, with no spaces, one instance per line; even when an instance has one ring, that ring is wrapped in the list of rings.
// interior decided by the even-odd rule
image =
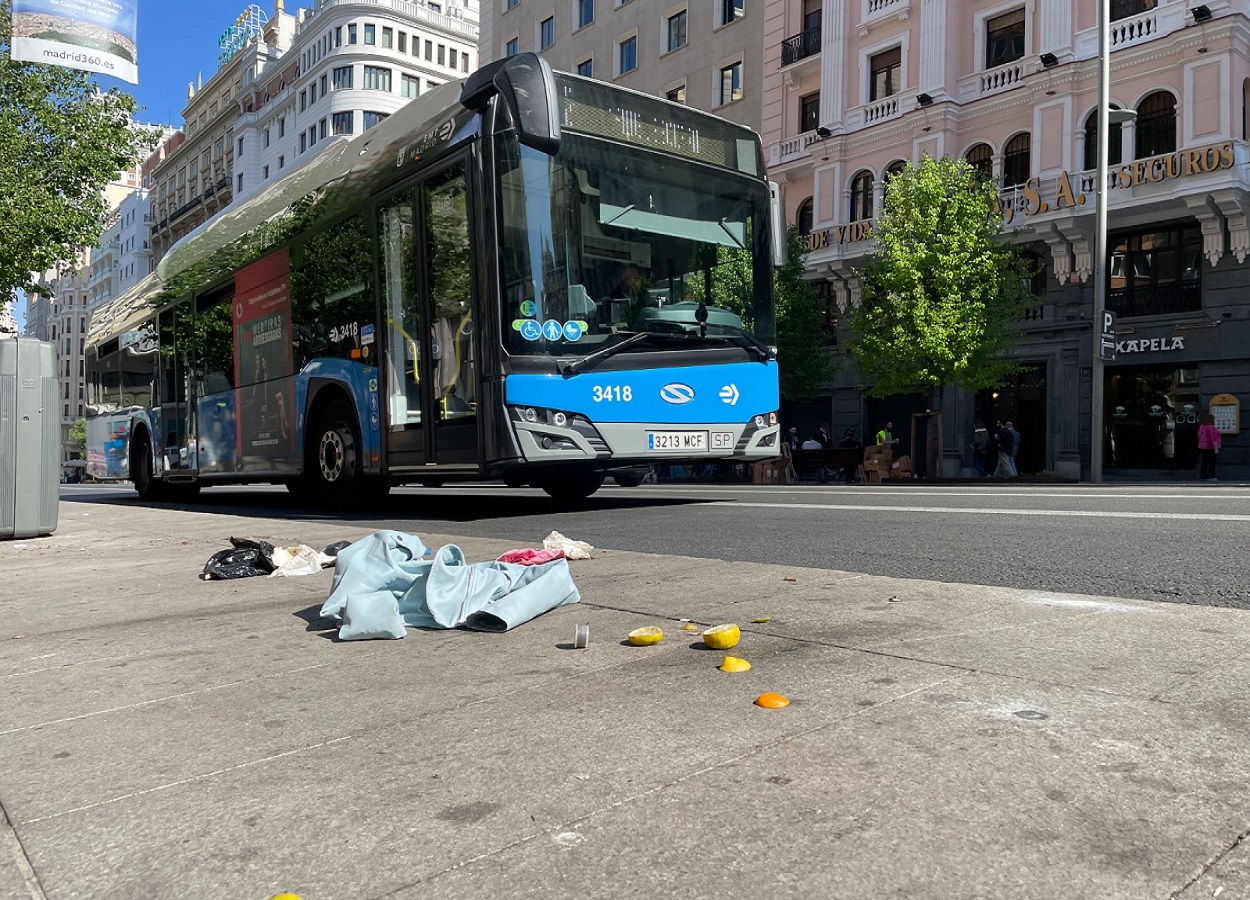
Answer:
[[[850,321],[849,350],[874,396],[980,390],[1016,368],[1002,351],[1028,272],[1002,239],[996,201],[994,182],[962,159],[926,156],[890,179]]]

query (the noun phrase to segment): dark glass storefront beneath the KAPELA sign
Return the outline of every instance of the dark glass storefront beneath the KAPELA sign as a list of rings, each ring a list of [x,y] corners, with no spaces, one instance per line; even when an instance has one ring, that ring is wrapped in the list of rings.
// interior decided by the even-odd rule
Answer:
[[[1198,369],[1108,370],[1102,465],[1192,471],[1201,405]]]

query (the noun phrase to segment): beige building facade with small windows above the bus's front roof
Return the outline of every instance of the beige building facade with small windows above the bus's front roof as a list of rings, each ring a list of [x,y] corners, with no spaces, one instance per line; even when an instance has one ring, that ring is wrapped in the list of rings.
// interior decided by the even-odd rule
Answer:
[[[538,52],[759,129],[765,16],[760,0],[490,0],[481,56]]]

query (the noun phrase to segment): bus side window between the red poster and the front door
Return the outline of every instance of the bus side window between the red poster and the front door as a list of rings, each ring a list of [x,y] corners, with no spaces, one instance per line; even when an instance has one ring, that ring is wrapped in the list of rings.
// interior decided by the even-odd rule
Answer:
[[[312,356],[378,364],[371,248],[361,215],[299,245],[291,266],[296,368]]]

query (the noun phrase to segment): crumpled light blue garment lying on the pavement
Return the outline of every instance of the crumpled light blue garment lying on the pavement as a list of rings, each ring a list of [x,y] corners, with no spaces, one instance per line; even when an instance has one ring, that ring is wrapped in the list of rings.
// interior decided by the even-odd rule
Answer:
[[[375,531],[339,552],[326,619],[341,640],[402,638],[405,625],[508,631],[548,610],[578,602],[569,561],[522,566],[468,562],[448,544],[426,559],[420,538]]]

